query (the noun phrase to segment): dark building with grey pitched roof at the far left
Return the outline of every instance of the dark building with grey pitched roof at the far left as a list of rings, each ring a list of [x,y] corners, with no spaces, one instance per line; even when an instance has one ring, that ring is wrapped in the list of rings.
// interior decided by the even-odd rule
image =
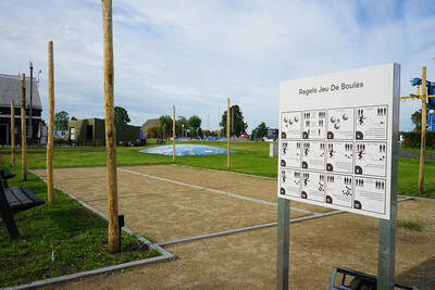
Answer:
[[[28,116],[30,108],[30,78],[26,77],[26,128],[27,139],[39,140],[42,105],[36,78],[33,79],[32,98],[32,135],[29,131]],[[11,143],[11,100],[15,102],[15,141],[21,142],[21,76],[0,74],[0,146]]]

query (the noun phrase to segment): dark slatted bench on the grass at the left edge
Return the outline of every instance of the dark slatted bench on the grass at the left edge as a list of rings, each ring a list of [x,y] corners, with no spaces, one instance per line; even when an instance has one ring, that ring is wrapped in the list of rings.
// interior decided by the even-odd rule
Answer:
[[[12,240],[20,238],[13,215],[46,203],[28,187],[9,188],[8,179],[14,176],[8,169],[0,169],[0,214]]]

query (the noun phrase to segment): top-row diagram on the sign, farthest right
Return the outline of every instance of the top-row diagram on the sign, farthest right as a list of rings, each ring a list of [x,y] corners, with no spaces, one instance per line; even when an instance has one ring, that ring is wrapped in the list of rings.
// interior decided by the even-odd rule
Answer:
[[[387,105],[358,106],[355,138],[357,140],[386,140],[387,119]]]

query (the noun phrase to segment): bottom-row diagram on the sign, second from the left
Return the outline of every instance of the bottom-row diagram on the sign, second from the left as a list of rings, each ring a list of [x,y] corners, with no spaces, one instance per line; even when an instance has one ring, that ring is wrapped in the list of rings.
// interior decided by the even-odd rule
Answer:
[[[315,172],[302,172],[301,199],[324,202],[325,201],[325,174]]]

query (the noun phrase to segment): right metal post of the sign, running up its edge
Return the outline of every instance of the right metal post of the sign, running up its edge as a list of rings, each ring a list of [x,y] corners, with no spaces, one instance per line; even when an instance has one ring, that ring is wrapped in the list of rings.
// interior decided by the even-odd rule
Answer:
[[[389,219],[380,218],[377,290],[393,289],[395,280],[397,185],[399,163],[399,109],[400,66],[394,66],[393,136],[391,136],[391,187]]]

